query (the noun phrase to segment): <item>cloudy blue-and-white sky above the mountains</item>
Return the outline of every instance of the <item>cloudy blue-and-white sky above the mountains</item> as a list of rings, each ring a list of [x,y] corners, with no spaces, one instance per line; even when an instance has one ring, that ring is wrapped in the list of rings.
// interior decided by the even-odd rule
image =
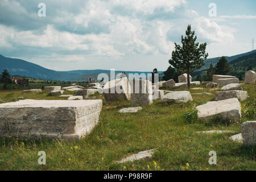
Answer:
[[[188,24],[208,58],[249,52],[256,1],[0,0],[0,54],[56,71],[165,71]]]

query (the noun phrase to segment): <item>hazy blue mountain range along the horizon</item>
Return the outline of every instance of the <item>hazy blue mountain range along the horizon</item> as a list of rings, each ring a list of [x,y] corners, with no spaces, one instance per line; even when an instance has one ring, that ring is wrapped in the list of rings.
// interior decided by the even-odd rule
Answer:
[[[234,56],[226,56],[228,62],[238,59],[239,57],[251,55],[252,53],[256,53],[256,50],[242,53],[239,55]],[[208,69],[210,63],[215,65],[220,57],[214,57],[205,60],[205,65],[198,69],[196,72],[203,71]],[[245,62],[245,60],[241,60]],[[254,61],[254,60],[253,60]],[[245,65],[245,63],[240,64],[240,60],[236,61],[236,64]],[[97,76],[99,73],[107,73],[110,75],[110,71],[106,69],[93,69],[93,70],[73,70],[73,71],[54,71],[52,69],[47,69],[41,67],[40,65],[30,63],[28,61],[22,59],[13,59],[10,57],[5,57],[0,55],[0,71],[2,72],[3,69],[7,69],[10,75],[20,75],[26,77],[33,77],[33,78],[43,78],[46,80],[60,80],[60,81],[87,81],[87,78],[92,77],[94,80],[97,80]],[[152,68],[153,69],[153,68]],[[115,71],[115,73],[122,73],[123,71]],[[141,73],[148,74],[151,72],[139,72],[139,71],[126,71],[126,74],[129,73]],[[160,77],[163,75],[162,71],[159,71]],[[197,74],[195,74],[197,75]]]

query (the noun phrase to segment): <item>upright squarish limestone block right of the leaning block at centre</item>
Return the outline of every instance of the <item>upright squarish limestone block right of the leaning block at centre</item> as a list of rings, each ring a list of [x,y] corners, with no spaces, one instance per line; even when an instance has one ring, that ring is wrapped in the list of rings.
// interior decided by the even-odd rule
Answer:
[[[134,79],[131,82],[131,88],[131,105],[140,106],[153,103],[152,86],[150,81]],[[155,92],[155,94],[157,93]]]

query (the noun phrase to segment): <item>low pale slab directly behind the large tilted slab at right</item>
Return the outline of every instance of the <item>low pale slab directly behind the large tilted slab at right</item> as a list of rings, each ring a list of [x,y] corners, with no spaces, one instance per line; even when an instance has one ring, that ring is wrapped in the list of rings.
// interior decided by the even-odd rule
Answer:
[[[247,97],[247,91],[242,90],[229,90],[215,93],[216,101],[225,100],[228,98],[238,98],[238,100],[244,101]]]

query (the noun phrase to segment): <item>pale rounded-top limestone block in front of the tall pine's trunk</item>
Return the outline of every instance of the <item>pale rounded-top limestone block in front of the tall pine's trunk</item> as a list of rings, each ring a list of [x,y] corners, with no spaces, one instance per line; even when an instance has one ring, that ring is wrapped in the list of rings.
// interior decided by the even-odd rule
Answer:
[[[176,91],[176,92],[170,92],[165,94],[162,99],[161,102],[164,101],[174,101],[175,103],[183,103],[183,102],[188,102],[188,101],[192,101],[193,98],[190,94],[190,92],[188,91]]]

